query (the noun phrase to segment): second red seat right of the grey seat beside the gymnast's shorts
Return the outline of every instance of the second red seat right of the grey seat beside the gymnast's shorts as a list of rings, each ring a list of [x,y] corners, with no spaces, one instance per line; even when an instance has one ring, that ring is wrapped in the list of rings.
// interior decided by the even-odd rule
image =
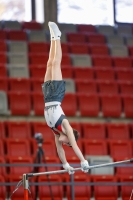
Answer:
[[[118,94],[119,88],[116,81],[97,81],[98,91],[101,94]]]

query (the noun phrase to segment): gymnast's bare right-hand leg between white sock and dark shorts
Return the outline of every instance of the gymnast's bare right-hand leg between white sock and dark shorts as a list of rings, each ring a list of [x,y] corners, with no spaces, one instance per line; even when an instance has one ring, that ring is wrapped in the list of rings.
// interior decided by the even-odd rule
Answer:
[[[52,62],[52,80],[62,80],[61,72],[62,50],[60,40],[55,40],[55,55]]]

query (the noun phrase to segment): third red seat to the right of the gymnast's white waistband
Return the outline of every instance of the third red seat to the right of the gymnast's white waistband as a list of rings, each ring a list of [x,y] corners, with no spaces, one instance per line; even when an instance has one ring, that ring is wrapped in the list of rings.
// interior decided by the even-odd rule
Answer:
[[[119,95],[103,94],[101,97],[102,113],[104,117],[120,117],[122,112]]]

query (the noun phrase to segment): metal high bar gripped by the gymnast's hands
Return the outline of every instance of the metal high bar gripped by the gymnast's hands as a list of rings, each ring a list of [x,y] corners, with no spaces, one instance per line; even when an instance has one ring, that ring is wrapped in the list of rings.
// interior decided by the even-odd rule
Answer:
[[[133,159],[130,160],[122,160],[122,161],[118,161],[118,162],[111,162],[111,163],[104,163],[104,164],[99,164],[99,165],[93,165],[93,166],[89,166],[89,169],[94,169],[94,168],[100,168],[100,167],[107,167],[107,166],[115,166],[121,163],[128,163],[128,162],[133,162]],[[79,171],[81,170],[80,168],[74,168],[73,171]],[[41,176],[41,175],[47,175],[47,174],[62,174],[62,173],[66,173],[67,170],[56,170],[56,171],[49,171],[49,172],[40,172],[40,173],[30,173],[27,174],[28,177],[32,177],[32,176]]]

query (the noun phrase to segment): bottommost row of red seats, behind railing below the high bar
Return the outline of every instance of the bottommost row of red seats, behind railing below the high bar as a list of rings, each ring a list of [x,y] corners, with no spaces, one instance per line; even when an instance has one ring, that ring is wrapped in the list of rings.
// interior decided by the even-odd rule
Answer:
[[[22,176],[10,176],[8,181],[9,182],[18,182],[20,181],[20,178]],[[1,182],[5,182],[3,177],[0,177]],[[49,177],[50,182],[57,182],[57,183],[62,183],[62,182],[70,182],[70,177],[66,178],[65,181],[62,180],[61,176],[58,175],[52,175]],[[94,197],[95,200],[117,200],[118,197],[122,197],[123,200],[127,200],[130,198],[131,192],[132,192],[132,181],[133,177],[132,176],[119,176],[119,177],[114,177],[114,176],[93,176],[90,178],[89,176],[85,174],[77,175],[74,177],[74,182],[81,182],[81,184],[78,186],[74,186],[74,192],[75,192],[75,199],[80,200],[81,198],[83,200],[89,200],[91,197]],[[35,180],[29,181],[30,183],[34,183]],[[48,177],[47,176],[40,176],[37,179],[38,183],[48,183]],[[118,187],[118,184],[122,183],[127,183]],[[88,183],[88,185],[84,185],[84,183]],[[89,183],[94,184],[92,187],[89,185]],[[96,183],[96,184],[95,184]],[[98,184],[99,183],[99,184]],[[116,183],[116,185],[115,185]],[[80,190],[79,190],[80,187]],[[6,186],[2,186],[0,188],[0,195],[1,195],[1,200],[5,199],[5,192],[6,192]],[[52,189],[52,194],[54,195],[55,200],[62,200],[62,198],[65,196],[67,197],[68,200],[71,199],[71,187],[68,186],[62,186],[62,185],[53,185],[51,186]],[[13,186],[10,186],[7,189],[7,192],[12,193],[14,190]],[[31,195],[32,198],[35,200],[36,199],[36,189],[35,186],[30,187],[31,190]],[[19,188],[17,192],[15,192],[12,196],[12,199],[20,199],[22,200],[24,196],[24,190],[23,187]],[[39,197],[40,200],[50,200],[51,199],[51,193],[50,193],[50,188],[47,185],[40,185],[38,186],[38,194],[37,196]],[[31,199],[31,196],[29,195],[29,199]]]

